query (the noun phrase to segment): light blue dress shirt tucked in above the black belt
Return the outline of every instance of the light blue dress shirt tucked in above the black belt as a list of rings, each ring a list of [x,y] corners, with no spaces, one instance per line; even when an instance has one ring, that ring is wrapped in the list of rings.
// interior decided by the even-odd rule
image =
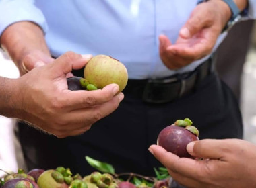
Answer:
[[[256,1],[249,1],[248,16],[255,18]],[[159,56],[158,36],[175,42],[196,5],[197,0],[0,0],[0,34],[11,23],[33,21],[55,57],[69,50],[107,54],[125,64],[130,79],[166,77],[193,71],[208,58],[171,71]]]

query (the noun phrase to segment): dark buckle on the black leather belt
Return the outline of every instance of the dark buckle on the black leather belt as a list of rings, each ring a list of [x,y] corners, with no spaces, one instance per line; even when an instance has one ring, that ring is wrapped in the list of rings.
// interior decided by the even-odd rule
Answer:
[[[142,99],[146,103],[168,103],[180,97],[185,91],[185,80],[179,77],[149,79],[143,90]]]

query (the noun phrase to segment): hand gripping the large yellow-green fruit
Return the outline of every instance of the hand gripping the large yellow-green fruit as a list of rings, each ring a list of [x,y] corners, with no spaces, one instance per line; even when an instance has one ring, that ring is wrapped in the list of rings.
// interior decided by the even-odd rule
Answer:
[[[112,113],[123,99],[118,85],[95,91],[70,91],[66,75],[85,66],[91,56],[67,52],[51,64],[32,69],[13,85],[15,118],[26,120],[59,138],[82,134]]]

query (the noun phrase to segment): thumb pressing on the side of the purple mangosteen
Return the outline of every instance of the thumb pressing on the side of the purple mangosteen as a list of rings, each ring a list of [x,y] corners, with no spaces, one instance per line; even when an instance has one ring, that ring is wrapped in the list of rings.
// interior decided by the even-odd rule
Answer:
[[[223,157],[222,140],[205,139],[187,144],[187,152],[197,158],[220,159]]]

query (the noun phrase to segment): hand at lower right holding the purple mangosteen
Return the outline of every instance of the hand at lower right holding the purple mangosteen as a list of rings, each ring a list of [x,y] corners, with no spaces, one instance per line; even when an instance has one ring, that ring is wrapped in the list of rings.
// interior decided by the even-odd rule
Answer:
[[[204,160],[179,158],[156,145],[149,150],[172,178],[186,187],[256,187],[256,146],[245,140],[205,139],[189,143],[189,154]]]

